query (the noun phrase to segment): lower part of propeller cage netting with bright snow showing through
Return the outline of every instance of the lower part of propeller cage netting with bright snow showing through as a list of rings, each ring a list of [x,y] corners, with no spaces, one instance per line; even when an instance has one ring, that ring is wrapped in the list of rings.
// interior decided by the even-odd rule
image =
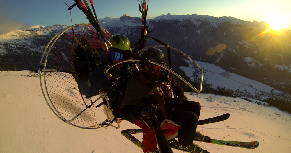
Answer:
[[[71,74],[51,72],[45,82],[52,104],[56,108],[56,111],[63,114],[66,120],[71,120],[86,109],[74,119],[74,125],[80,127],[92,127],[97,125],[95,120],[96,107],[87,108],[91,101],[89,99],[84,99],[87,106],[84,104],[75,78]]]

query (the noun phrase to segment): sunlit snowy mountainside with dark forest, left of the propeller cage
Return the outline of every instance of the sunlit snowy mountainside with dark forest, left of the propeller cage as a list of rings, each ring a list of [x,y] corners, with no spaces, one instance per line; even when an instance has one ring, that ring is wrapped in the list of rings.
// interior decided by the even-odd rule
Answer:
[[[37,70],[49,41],[66,27],[31,26],[0,34],[0,70]]]

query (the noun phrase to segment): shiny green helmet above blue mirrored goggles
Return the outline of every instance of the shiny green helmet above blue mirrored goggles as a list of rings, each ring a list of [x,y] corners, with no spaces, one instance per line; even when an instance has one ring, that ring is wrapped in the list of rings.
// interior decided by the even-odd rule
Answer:
[[[109,39],[112,47],[118,48],[121,50],[130,50],[130,42],[129,39],[124,35],[114,35]],[[110,48],[110,46],[109,46]],[[108,48],[108,49],[109,49]]]

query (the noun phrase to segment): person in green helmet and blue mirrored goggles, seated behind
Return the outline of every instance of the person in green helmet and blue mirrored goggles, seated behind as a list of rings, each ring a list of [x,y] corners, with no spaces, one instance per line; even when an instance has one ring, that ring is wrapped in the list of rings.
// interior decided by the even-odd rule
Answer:
[[[126,36],[114,35],[109,39],[109,42],[112,47],[109,47],[109,60],[107,67],[128,59],[127,56],[112,51],[114,48],[118,48],[120,50],[132,53],[129,39]],[[129,76],[133,73],[131,68],[132,63],[125,62],[114,66],[114,68],[109,71],[110,76],[107,76],[108,73],[104,73],[107,51],[103,51],[99,60],[99,62],[102,63],[101,66],[99,66],[97,70],[90,73],[89,65],[92,57],[90,51],[78,46],[74,52],[77,54],[77,56],[73,55],[74,71],[79,78],[76,79],[76,81],[78,82],[80,93],[85,95],[85,98],[90,98],[92,96],[99,95],[100,90],[106,92],[115,117],[122,118],[119,113],[120,104],[123,99],[126,83],[129,80]]]

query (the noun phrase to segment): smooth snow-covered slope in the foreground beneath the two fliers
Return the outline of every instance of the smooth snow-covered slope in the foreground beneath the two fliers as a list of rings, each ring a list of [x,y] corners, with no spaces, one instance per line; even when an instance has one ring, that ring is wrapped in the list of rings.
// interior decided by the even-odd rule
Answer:
[[[88,130],[58,119],[42,96],[39,78],[27,77],[28,74],[27,71],[0,71],[0,152],[142,152],[120,133],[123,129],[138,128],[127,121],[121,122],[120,129]],[[212,153],[291,152],[290,114],[239,98],[186,95],[189,100],[201,103],[200,120],[230,113],[228,120],[198,126],[204,135],[260,143],[258,148],[251,150],[197,142],[204,149]],[[103,110],[96,109],[95,113],[105,118]],[[134,136],[141,140],[141,134]]]

